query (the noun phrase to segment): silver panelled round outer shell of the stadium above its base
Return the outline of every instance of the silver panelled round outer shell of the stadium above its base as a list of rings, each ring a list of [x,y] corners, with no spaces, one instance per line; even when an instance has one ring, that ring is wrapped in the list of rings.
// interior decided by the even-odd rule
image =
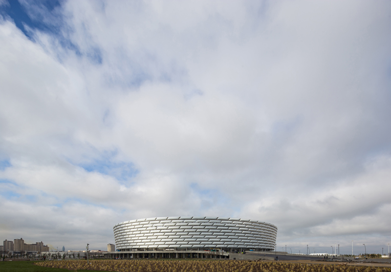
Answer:
[[[273,251],[277,227],[249,219],[157,217],[114,226],[118,251]]]

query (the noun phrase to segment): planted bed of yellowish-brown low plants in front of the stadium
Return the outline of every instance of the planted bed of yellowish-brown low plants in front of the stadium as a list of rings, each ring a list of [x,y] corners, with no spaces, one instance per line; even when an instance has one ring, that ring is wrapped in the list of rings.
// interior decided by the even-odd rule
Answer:
[[[391,272],[390,268],[230,260],[84,260],[46,261],[35,265],[69,270],[117,272]]]

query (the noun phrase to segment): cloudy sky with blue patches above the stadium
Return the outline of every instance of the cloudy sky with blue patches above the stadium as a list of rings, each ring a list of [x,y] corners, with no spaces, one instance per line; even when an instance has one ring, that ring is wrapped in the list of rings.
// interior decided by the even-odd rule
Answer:
[[[0,0],[0,240],[221,216],[388,252],[390,25],[385,0]]]

